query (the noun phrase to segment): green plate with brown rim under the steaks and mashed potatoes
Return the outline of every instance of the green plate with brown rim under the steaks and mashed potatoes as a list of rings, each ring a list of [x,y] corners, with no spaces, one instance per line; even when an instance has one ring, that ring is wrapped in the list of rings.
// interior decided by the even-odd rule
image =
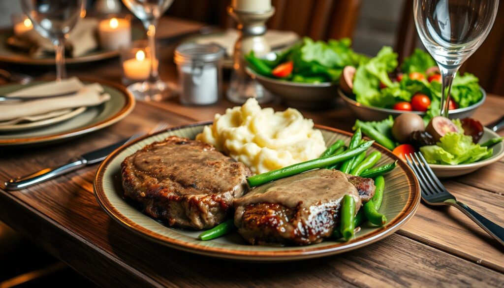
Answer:
[[[385,176],[385,193],[380,212],[387,216],[388,222],[382,226],[364,224],[356,237],[348,242],[324,240],[308,246],[252,246],[238,233],[226,235],[210,241],[198,240],[201,231],[170,228],[143,214],[139,209],[123,199],[120,163],[125,157],[135,153],[145,145],[160,141],[170,135],[194,139],[211,123],[196,123],[149,135],[128,143],[112,152],[98,167],[94,180],[94,193],[101,207],[116,221],[134,233],[163,245],[187,252],[218,258],[243,261],[290,261],[338,254],[369,245],[396,231],[414,215],[420,203],[420,189],[413,171],[385,147],[373,144],[371,151],[382,152],[377,165],[398,161],[398,167]],[[348,141],[350,133],[316,126],[322,131],[326,143],[338,139]],[[137,243],[138,244],[138,243]]]

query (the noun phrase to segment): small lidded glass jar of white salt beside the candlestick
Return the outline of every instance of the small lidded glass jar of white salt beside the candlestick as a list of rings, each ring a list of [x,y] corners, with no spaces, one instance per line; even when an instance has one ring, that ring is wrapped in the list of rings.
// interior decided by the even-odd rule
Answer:
[[[215,44],[184,43],[175,49],[180,102],[209,105],[221,92],[224,49]]]

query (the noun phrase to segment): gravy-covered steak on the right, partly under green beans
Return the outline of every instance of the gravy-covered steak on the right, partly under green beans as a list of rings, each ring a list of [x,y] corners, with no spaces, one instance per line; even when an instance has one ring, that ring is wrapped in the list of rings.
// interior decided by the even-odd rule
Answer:
[[[234,200],[234,223],[250,244],[319,243],[333,234],[345,194],[355,211],[374,195],[372,179],[318,169],[251,190]]]

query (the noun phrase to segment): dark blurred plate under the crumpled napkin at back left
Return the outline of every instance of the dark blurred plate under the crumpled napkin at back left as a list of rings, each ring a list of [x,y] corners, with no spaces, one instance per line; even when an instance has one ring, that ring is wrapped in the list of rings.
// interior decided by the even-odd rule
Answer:
[[[132,41],[143,38],[144,32],[138,28],[132,27]],[[0,61],[24,65],[55,65],[53,54],[47,54],[42,58],[33,58],[27,52],[15,49],[7,44],[7,39],[13,35],[12,31],[0,31]],[[79,64],[87,62],[101,61],[110,59],[119,55],[119,50],[96,49],[79,57],[65,57],[66,64]]]

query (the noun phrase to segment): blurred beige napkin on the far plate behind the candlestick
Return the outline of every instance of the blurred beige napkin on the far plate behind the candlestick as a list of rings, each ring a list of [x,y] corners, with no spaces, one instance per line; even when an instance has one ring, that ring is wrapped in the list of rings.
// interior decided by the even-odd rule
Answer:
[[[268,30],[264,35],[266,41],[272,49],[278,49],[290,45],[299,39],[299,36],[292,31]],[[227,29],[224,34],[215,36],[205,36],[196,40],[200,44],[217,44],[226,49],[228,56],[233,55],[234,43],[238,40],[238,31]]]

